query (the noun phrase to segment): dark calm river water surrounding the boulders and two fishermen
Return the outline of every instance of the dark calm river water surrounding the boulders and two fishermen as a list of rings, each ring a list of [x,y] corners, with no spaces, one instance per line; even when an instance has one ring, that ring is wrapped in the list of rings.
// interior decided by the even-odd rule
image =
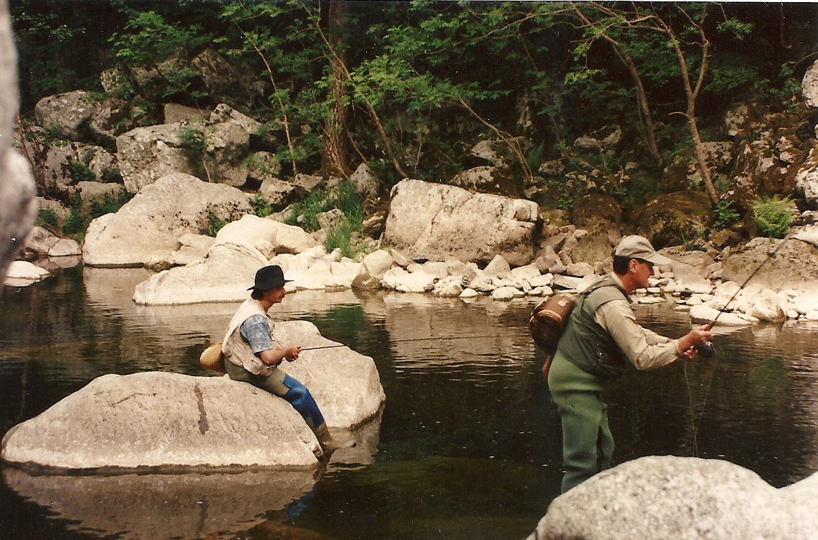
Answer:
[[[0,434],[106,373],[209,376],[237,304],[136,306],[144,270],[70,268],[0,297]],[[533,299],[300,291],[272,313],[374,358],[386,404],[362,452],[279,474],[28,475],[2,468],[0,540],[517,540],[560,491],[559,416],[528,335]],[[636,308],[664,335],[672,302]],[[712,360],[628,372],[609,394],[615,462],[726,459],[775,487],[818,470],[818,326],[719,335]],[[344,451],[338,452],[341,454]],[[232,490],[232,491],[231,491]]]

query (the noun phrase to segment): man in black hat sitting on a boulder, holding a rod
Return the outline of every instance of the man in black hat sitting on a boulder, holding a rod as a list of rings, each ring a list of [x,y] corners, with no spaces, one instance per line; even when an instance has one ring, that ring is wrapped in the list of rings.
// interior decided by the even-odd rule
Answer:
[[[227,375],[260,389],[285,398],[315,433],[325,453],[348,448],[353,443],[342,443],[332,438],[324,416],[306,386],[278,368],[284,360],[294,362],[301,347],[283,345],[273,340],[275,327],[267,314],[273,304],[284,299],[286,292],[284,272],[276,265],[259,268],[255,275],[250,299],[241,304],[233,316],[222,340],[222,353]]]

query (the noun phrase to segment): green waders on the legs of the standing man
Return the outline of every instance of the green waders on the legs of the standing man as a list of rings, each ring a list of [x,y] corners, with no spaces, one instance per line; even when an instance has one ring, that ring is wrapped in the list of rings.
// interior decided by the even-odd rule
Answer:
[[[557,352],[548,373],[548,388],[562,419],[565,493],[610,466],[613,436],[608,405],[602,398],[605,385]]]

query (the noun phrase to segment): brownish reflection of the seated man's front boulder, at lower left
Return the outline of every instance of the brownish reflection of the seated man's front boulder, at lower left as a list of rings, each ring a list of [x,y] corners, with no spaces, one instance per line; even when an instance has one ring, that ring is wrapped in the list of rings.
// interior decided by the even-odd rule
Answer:
[[[310,493],[314,471],[213,475],[34,476],[6,468],[21,497],[70,530],[122,540],[231,538]]]

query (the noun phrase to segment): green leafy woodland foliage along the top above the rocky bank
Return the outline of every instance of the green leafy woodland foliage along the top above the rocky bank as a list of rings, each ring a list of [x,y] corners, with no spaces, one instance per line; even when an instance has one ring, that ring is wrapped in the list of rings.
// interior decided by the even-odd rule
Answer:
[[[10,2],[25,110],[45,92],[85,88],[106,97],[98,75],[110,68],[119,68],[126,86],[134,82],[132,68],[158,79],[160,97],[129,102],[132,112],[155,115],[159,103],[171,99],[212,107],[216,97],[188,66],[214,48],[264,86],[255,110],[247,112],[267,122],[261,131],[271,136],[259,138],[264,150],[276,152],[283,175],[325,166],[327,126],[340,105],[349,113],[344,140],[387,187],[403,173],[451,178],[472,166],[468,149],[487,135],[510,148],[520,135],[535,142],[528,155],[517,154],[513,173],[521,175],[555,153],[568,154],[570,141],[605,124],[632,126],[626,137],[647,141],[645,111],[658,120],[657,148],[648,145],[627,159],[661,163],[694,142],[680,129],[678,113],[684,115],[687,104],[683,68],[696,79],[706,56],[693,116],[715,125],[738,92],[753,87],[792,106],[806,65],[800,49],[784,42],[785,30],[795,27],[789,21],[803,20],[798,14],[807,8],[789,5],[84,0],[85,9],[77,10],[73,3]],[[339,4],[344,16],[332,28],[328,10]],[[753,40],[746,39],[751,31]],[[643,90],[624,58],[636,67]],[[339,86],[341,97],[334,93]],[[112,95],[125,97],[117,89]],[[640,97],[644,107],[637,105]],[[519,122],[521,104],[528,106],[527,124]],[[198,165],[204,148],[194,135],[189,143]],[[645,182],[656,182],[662,169]],[[636,191],[649,192],[644,188],[633,186],[631,199],[640,198]],[[572,197],[566,194],[560,204]]]

